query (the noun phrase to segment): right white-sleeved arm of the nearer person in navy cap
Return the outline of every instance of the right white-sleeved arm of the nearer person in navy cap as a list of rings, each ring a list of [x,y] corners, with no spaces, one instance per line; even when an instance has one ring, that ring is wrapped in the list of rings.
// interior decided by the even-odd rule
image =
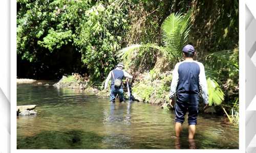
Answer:
[[[204,100],[204,104],[209,104],[208,101],[208,87],[207,87],[207,81],[205,77],[205,70],[204,65],[202,63],[199,64],[200,66],[200,73],[199,73],[199,85],[202,90],[202,97]]]

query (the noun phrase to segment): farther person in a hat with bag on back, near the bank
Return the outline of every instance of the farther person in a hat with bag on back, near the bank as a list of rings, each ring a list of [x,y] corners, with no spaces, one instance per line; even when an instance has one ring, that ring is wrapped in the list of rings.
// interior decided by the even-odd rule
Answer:
[[[104,89],[108,87],[109,80],[111,79],[111,90],[110,90],[110,102],[115,103],[116,95],[118,94],[120,103],[124,100],[123,98],[123,86],[122,80],[126,78],[126,81],[132,81],[133,77],[129,73],[123,70],[123,63],[118,63],[117,67],[110,71],[105,81]]]

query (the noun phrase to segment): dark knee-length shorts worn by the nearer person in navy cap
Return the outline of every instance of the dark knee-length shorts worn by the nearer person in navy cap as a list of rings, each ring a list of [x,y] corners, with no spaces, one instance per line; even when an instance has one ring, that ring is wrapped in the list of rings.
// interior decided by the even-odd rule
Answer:
[[[190,105],[187,103],[176,103],[175,105],[175,121],[183,123],[186,112],[188,111],[188,125],[197,124],[198,105]]]

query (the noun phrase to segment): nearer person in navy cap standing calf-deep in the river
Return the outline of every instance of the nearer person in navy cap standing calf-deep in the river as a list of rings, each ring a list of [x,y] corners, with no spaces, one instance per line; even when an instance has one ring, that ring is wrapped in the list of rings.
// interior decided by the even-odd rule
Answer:
[[[177,96],[175,105],[176,137],[180,137],[181,125],[188,111],[188,139],[194,139],[200,89],[205,104],[204,109],[208,107],[207,82],[204,65],[193,59],[196,56],[195,48],[187,44],[183,47],[182,52],[185,60],[175,65],[169,97],[170,103],[172,103],[173,97]]]

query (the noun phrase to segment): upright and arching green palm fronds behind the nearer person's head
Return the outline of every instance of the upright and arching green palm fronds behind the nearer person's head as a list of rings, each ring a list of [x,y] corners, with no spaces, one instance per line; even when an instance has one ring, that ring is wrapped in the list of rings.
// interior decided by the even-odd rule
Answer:
[[[143,54],[145,50],[156,49],[160,54],[167,55],[170,62],[179,62],[182,58],[182,47],[188,40],[190,27],[190,12],[186,15],[172,13],[163,21],[161,27],[161,40],[164,46],[158,46],[153,43],[144,45],[134,44],[122,48],[119,51],[119,57],[122,57],[123,60],[127,60],[129,55],[132,55],[135,50],[140,49],[139,53]]]

